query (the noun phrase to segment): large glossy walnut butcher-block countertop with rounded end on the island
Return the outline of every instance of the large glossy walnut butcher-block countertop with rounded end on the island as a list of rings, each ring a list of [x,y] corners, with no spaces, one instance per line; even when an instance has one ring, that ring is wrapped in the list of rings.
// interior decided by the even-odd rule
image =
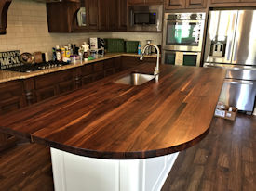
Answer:
[[[142,64],[0,116],[0,130],[99,159],[145,159],[195,145],[209,131],[225,70],[160,65],[158,82],[114,83]]]

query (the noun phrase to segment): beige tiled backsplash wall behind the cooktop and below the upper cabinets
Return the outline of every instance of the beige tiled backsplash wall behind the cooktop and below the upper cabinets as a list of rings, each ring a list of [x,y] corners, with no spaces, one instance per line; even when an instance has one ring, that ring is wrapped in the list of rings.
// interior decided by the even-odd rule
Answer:
[[[32,0],[13,0],[7,13],[7,34],[0,35],[0,51],[42,51],[51,53],[55,45],[69,43],[81,45],[89,37],[124,38],[128,40],[153,39],[161,43],[159,33],[94,32],[94,33],[49,33],[47,31],[47,8],[45,3]]]

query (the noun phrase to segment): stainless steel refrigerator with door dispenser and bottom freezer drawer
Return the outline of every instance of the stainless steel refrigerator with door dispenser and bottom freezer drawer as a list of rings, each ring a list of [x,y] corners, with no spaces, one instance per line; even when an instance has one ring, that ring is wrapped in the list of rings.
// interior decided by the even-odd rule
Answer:
[[[256,96],[256,10],[213,10],[205,67],[227,70],[220,101],[251,113]]]

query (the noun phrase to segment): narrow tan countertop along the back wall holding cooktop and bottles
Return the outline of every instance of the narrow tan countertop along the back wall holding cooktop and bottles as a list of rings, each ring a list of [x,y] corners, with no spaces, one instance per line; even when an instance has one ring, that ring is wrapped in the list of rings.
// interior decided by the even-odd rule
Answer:
[[[102,58],[97,58],[94,60],[90,60],[87,62],[78,62],[76,64],[69,64],[62,67],[56,67],[53,69],[45,69],[45,70],[36,70],[30,73],[22,73],[22,72],[15,72],[15,71],[8,71],[8,70],[0,70],[0,83],[5,83],[13,80],[20,80],[20,79],[27,79],[38,75],[44,75],[51,72],[61,71],[61,70],[67,70],[72,69],[75,67],[80,67],[89,63],[98,62],[105,59],[110,59],[114,57],[122,57],[122,56],[128,56],[128,57],[140,57],[138,54],[130,54],[130,53],[108,53]],[[156,55],[151,56],[145,56],[145,57],[156,57]]]

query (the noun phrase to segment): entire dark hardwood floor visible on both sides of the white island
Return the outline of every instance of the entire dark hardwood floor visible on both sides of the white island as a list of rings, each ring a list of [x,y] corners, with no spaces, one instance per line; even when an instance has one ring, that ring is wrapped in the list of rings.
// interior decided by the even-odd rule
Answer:
[[[207,137],[180,153],[162,191],[252,191],[255,155],[255,116],[214,118]],[[0,190],[52,191],[49,149],[32,144],[0,153]]]

